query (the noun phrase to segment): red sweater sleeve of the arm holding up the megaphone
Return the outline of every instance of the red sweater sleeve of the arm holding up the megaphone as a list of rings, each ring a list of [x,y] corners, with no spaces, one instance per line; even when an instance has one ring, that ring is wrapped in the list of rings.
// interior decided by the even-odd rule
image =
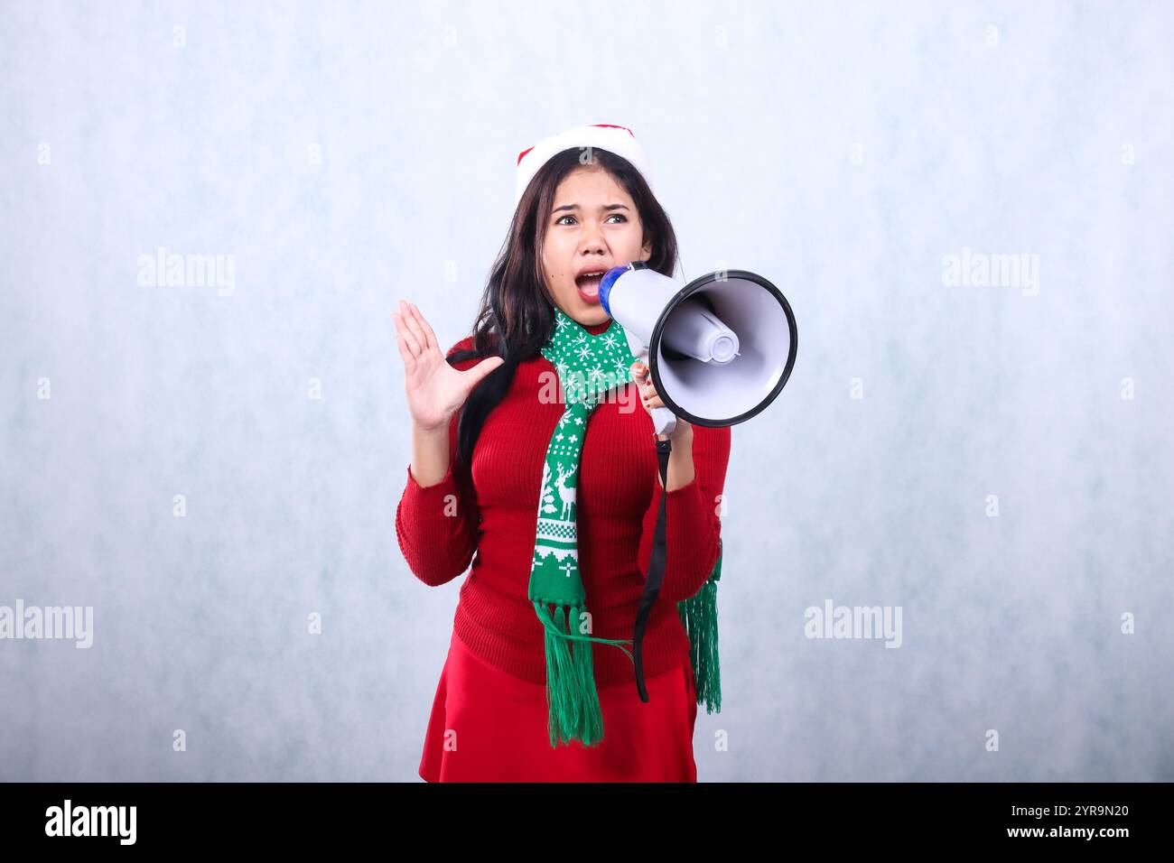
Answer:
[[[664,542],[667,558],[661,598],[680,602],[693,596],[709,580],[717,564],[718,540],[722,522],[717,515],[722,488],[726,485],[726,466],[730,456],[730,430],[693,427],[694,478],[680,488],[668,492],[664,514]],[[656,513],[664,488],[660,484],[660,466],[653,478],[655,488],[652,504],[645,513],[640,535],[640,574],[648,578],[648,564],[653,557],[653,538],[656,530]]]

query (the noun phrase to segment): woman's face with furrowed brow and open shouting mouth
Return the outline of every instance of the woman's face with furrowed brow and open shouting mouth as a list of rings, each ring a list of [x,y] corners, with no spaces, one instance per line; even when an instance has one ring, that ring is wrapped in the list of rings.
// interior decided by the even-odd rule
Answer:
[[[641,247],[643,225],[623,187],[602,168],[575,168],[559,183],[554,209],[546,214],[542,272],[551,297],[562,311],[585,326],[608,319],[599,304],[600,276],[633,261],[652,257],[652,244]]]

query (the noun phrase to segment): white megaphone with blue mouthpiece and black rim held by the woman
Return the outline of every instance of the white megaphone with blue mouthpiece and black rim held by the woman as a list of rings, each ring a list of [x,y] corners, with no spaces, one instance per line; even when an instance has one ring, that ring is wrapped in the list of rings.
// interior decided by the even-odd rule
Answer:
[[[744,423],[775,400],[795,366],[795,315],[757,274],[718,270],[682,286],[634,261],[603,275],[599,299],[652,371],[666,405],[650,411],[657,434],[672,433],[677,417],[709,427]]]

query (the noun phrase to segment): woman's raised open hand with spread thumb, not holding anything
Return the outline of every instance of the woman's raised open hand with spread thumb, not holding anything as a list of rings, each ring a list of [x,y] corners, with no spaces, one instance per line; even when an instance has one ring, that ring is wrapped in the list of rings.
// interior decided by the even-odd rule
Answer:
[[[399,311],[392,312],[391,319],[396,323],[396,344],[404,359],[404,390],[412,422],[425,432],[447,429],[450,418],[465,404],[473,387],[505,360],[488,357],[472,369],[453,369],[416,305],[400,299]]]

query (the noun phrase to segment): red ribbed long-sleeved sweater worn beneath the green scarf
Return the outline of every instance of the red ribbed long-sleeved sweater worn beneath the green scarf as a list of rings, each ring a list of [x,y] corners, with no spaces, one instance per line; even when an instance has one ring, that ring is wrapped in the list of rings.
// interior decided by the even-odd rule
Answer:
[[[607,324],[586,328],[602,332]],[[472,345],[458,342],[448,352]],[[468,369],[479,360],[454,364]],[[546,682],[542,625],[526,598],[538,494],[546,446],[565,405],[539,399],[554,375],[542,356],[520,363],[513,386],[490,413],[473,450],[472,471],[457,463],[457,423],[448,427],[448,472],[421,487],[407,467],[396,510],[396,535],[409,567],[426,585],[472,571],[460,588],[453,626],[481,659],[534,682]],[[634,383],[630,400],[609,397],[588,420],[578,484],[579,566],[592,615],[591,634],[630,639],[652,557],[660,484],[652,417]],[[627,412],[623,412],[623,411]],[[717,562],[717,512],[729,460],[730,430],[695,425],[694,479],[668,492],[667,561],[645,632],[645,676],[683,662],[689,638],[676,604],[695,594]],[[475,559],[474,559],[474,552]],[[630,645],[627,645],[632,649]],[[612,645],[592,642],[599,686],[635,680],[632,661]]]

